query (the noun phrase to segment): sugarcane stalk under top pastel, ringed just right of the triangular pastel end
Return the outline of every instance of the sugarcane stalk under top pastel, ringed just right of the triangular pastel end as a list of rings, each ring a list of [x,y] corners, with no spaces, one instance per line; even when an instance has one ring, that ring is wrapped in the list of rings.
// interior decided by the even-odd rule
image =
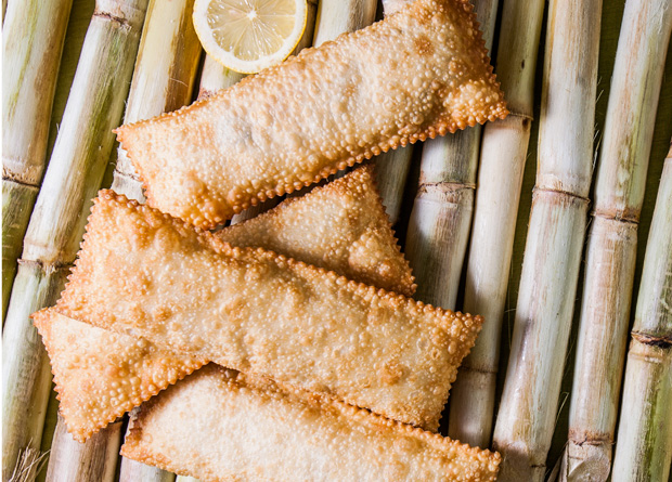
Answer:
[[[475,2],[486,49],[492,47],[499,0]],[[505,94],[506,95],[506,94]],[[427,140],[405,253],[417,279],[417,299],[455,309],[467,249],[481,127]]]

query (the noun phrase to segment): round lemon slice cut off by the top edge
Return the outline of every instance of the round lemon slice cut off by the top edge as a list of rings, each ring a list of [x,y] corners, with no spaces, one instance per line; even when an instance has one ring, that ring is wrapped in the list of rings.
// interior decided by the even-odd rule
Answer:
[[[194,27],[223,66],[255,74],[287,58],[306,28],[306,0],[196,0]]]

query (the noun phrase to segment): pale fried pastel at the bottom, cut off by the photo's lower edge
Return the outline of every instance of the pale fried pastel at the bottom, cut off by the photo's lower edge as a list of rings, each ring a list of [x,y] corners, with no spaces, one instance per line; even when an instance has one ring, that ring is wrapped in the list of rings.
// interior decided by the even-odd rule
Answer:
[[[203,481],[494,481],[500,454],[208,365],[131,414],[121,455]]]

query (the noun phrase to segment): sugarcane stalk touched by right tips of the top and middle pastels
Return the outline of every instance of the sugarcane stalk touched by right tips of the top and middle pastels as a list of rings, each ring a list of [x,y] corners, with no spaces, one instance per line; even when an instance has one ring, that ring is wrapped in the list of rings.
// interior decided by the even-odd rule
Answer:
[[[451,391],[449,435],[487,447],[492,435],[500,333],[522,172],[530,139],[534,70],[544,2],[505,0],[497,80],[509,116],[483,129],[467,261],[465,310],[482,313],[483,329]]]

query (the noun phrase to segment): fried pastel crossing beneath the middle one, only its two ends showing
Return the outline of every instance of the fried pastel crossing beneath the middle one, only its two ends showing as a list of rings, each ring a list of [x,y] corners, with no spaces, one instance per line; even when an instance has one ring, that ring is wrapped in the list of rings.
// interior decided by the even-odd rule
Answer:
[[[411,270],[373,179],[371,168],[357,169],[216,235],[235,246],[272,249],[356,281],[412,292]],[[306,232],[306,223],[312,232]],[[321,259],[320,251],[327,255]],[[80,442],[205,363],[53,309],[33,317],[49,352],[61,414]]]

